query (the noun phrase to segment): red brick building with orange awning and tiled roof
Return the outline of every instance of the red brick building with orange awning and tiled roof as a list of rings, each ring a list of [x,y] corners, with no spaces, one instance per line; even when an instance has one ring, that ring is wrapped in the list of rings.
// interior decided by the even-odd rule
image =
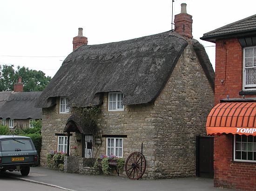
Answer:
[[[207,32],[216,43],[214,185],[256,191],[256,15]]]

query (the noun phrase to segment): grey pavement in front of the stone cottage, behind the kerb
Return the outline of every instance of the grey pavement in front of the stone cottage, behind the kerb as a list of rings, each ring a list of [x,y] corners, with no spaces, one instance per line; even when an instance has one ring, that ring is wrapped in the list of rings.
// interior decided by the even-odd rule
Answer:
[[[33,167],[30,172],[26,179],[75,191],[235,191],[215,188],[213,179],[209,178],[130,180],[121,176],[69,174],[44,167]],[[7,174],[12,174],[15,178],[24,178],[19,172]]]

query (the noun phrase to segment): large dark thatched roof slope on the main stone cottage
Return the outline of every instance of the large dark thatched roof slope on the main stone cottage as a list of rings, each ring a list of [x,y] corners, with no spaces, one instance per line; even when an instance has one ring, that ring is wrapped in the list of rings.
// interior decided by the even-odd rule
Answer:
[[[36,107],[67,96],[71,107],[100,105],[104,92],[124,93],[123,104],[148,103],[160,94],[187,40],[175,32],[102,45],[83,45],[64,60]]]

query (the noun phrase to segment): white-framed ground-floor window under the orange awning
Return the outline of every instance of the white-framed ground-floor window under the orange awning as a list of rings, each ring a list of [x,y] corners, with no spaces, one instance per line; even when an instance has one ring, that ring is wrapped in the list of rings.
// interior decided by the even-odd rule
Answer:
[[[234,135],[234,160],[256,162],[256,136]]]

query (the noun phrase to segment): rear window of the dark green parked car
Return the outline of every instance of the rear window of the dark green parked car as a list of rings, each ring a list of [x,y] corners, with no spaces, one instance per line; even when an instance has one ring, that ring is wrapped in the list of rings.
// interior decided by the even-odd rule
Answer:
[[[30,140],[28,139],[8,139],[1,140],[2,151],[28,151],[33,150]]]

